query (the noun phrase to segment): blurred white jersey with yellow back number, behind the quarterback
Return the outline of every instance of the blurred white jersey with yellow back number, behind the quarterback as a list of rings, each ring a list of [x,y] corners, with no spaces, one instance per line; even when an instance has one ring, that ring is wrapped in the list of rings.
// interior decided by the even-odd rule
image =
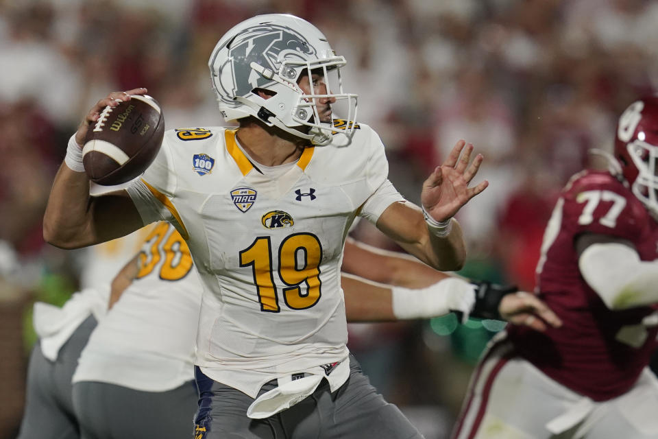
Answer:
[[[166,222],[156,225],[136,279],[93,331],[73,382],[164,392],[193,380],[202,289],[185,241]]]

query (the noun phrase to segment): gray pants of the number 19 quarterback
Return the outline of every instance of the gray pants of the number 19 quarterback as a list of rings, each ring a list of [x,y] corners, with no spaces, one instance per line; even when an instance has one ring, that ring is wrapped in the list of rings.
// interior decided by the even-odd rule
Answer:
[[[393,404],[378,394],[350,356],[350,378],[335,392],[321,381],[293,407],[265,419],[247,417],[254,401],[243,392],[206,377],[196,368],[199,410],[195,439],[422,439]],[[266,383],[260,394],[276,387]]]

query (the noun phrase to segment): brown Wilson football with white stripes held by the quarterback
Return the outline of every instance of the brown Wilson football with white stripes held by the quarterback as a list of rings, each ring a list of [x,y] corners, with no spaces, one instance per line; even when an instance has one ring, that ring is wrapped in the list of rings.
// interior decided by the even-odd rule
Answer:
[[[156,99],[132,95],[114,108],[106,106],[87,131],[84,171],[103,186],[132,180],[154,161],[163,136],[164,119]]]

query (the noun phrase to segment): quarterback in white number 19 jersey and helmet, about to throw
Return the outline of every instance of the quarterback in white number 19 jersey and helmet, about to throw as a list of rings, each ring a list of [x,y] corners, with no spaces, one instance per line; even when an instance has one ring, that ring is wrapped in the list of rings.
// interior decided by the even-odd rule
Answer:
[[[344,64],[310,23],[256,16],[230,29],[209,62],[220,109],[239,128],[166,132],[141,180],[96,198],[80,171],[87,128],[145,89],[101,99],[69,142],[47,241],[88,246],[164,219],[188,243],[204,284],[199,437],[420,436],[348,357],[343,245],[361,215],[433,268],[460,268],[452,217],[487,187],[468,187],[482,156],[470,163],[472,145],[459,141],[424,183],[422,209],[406,202],[387,180],[378,135],[355,120],[356,95],[339,80],[328,86]],[[339,101],[345,120],[334,119]]]

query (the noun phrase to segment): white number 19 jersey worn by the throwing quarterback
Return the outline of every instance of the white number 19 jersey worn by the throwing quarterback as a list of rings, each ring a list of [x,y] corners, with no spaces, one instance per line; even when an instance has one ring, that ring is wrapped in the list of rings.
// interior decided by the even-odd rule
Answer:
[[[347,357],[345,236],[357,214],[376,221],[403,200],[365,125],[351,142],[336,134],[306,148],[294,165],[258,166],[234,129],[169,130],[127,189],[145,224],[177,226],[204,282],[195,364],[252,397],[273,378]]]

